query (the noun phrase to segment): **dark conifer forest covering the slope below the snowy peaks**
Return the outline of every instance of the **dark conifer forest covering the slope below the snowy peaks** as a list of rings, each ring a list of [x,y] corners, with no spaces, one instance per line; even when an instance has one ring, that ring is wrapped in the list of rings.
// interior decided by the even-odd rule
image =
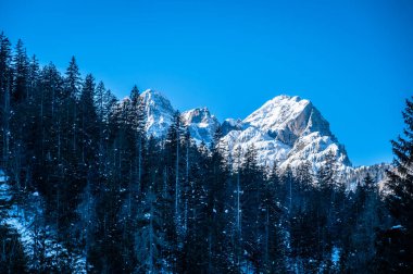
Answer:
[[[229,157],[218,128],[197,145],[175,113],[166,137],[146,133],[136,86],[117,100],[72,58],[62,74],[0,36],[0,167],[13,189],[0,203],[43,211],[33,254],[1,222],[0,272],[403,273],[412,270],[413,102],[395,170],[379,192],[367,175],[353,190],[333,151],[310,162],[261,166],[249,147]],[[48,254],[49,239],[65,252]]]

